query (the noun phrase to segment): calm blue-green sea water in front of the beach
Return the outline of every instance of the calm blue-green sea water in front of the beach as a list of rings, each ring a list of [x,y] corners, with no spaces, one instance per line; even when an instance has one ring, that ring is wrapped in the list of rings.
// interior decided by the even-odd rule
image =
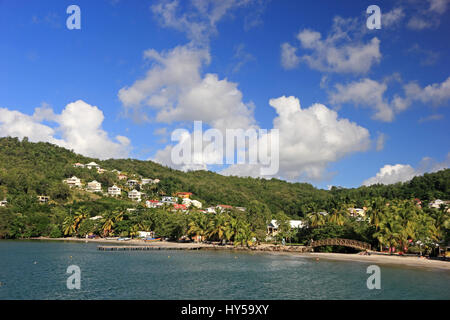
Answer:
[[[170,256],[170,258],[169,258]],[[36,263],[35,263],[36,262]],[[67,267],[81,269],[69,290]],[[97,250],[97,244],[0,241],[0,299],[450,299],[450,272],[226,251]]]

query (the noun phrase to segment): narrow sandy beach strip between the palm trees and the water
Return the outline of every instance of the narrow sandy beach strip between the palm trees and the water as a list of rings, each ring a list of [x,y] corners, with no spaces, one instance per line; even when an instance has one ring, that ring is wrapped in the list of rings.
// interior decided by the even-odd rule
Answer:
[[[30,238],[22,240],[40,240],[40,241],[68,241],[68,242],[84,242],[84,243],[98,243],[98,244],[109,244],[114,246],[152,246],[158,247],[162,250],[169,248],[177,248],[180,250],[189,250],[191,248],[201,248],[206,250],[226,250],[226,251],[247,251],[247,252],[258,252],[258,253],[271,253],[271,254],[286,254],[290,256],[298,256],[302,258],[309,259],[320,259],[332,260],[332,261],[345,261],[345,262],[364,262],[364,263],[375,263],[380,265],[396,265],[403,267],[418,267],[426,269],[439,269],[450,271],[450,262],[442,260],[431,260],[419,257],[406,257],[406,256],[389,256],[380,254],[360,255],[357,253],[326,253],[326,252],[298,252],[289,250],[285,247],[275,246],[275,245],[260,245],[258,247],[246,248],[246,247],[234,247],[231,245],[219,246],[207,243],[193,243],[193,242],[167,242],[167,241],[155,241],[146,242],[144,240],[128,240],[128,241],[117,241],[117,240],[107,240],[107,239],[81,239],[81,238]]]

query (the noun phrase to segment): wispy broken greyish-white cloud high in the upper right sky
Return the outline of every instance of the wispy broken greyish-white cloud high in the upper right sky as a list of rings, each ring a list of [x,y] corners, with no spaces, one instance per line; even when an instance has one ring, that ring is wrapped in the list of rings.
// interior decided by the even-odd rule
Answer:
[[[335,17],[330,33],[323,38],[320,32],[304,29],[297,39],[300,47],[310,54],[304,54],[298,59],[310,68],[324,72],[335,73],[367,73],[370,68],[381,60],[380,40],[376,37],[368,42],[362,40],[364,32],[357,19]],[[359,26],[359,27],[358,27]],[[282,63],[296,61],[295,47],[282,45]],[[283,59],[283,54],[291,59]],[[298,63],[298,62],[297,62]],[[295,64],[290,64],[291,68]]]

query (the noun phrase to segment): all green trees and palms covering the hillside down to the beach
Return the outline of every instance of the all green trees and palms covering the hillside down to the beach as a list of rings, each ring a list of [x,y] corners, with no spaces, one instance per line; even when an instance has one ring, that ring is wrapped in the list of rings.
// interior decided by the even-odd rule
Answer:
[[[108,171],[99,174],[96,170],[73,167],[74,163],[91,161]],[[246,207],[247,211],[232,210],[222,216],[220,222],[217,221],[219,215],[212,217],[198,212],[186,215],[167,208],[146,209],[126,197],[114,199],[74,190],[62,182],[75,175],[84,182],[97,180],[106,190],[113,184],[123,184],[117,174],[111,172],[113,169],[127,173],[129,178],[142,176],[160,179],[156,185],[144,186],[143,191],[149,199],[186,191],[192,192],[193,198],[201,201],[203,207],[227,204]],[[50,202],[39,204],[39,195],[49,196]],[[422,201],[424,209],[411,206],[414,198]],[[100,161],[49,143],[31,143],[26,138],[22,141],[0,138],[0,201],[8,201],[7,207],[0,207],[0,238],[84,236],[91,233],[133,235],[137,230],[152,230],[172,238],[198,233],[205,239],[222,238],[245,243],[254,237],[262,240],[267,222],[271,219],[280,222],[303,219],[308,223],[309,227],[301,232],[284,235],[296,242],[336,236],[365,240],[377,246],[411,238],[411,235],[406,238],[404,235],[396,236],[395,241],[383,238],[380,230],[387,228],[386,219],[380,218],[378,221],[373,218],[375,220],[371,220],[370,224],[363,224],[345,217],[344,212],[349,207],[366,206],[372,215],[377,210],[379,215],[385,217],[403,215],[403,222],[398,223],[405,224],[405,228],[408,221],[413,220],[408,218],[413,213],[417,221],[428,219],[426,223],[440,228],[438,231],[441,233],[435,241],[441,241],[448,238],[448,225],[446,229],[442,222],[448,219],[448,214],[442,210],[443,217],[438,217],[436,212],[439,210],[428,209],[428,202],[436,198],[450,199],[450,169],[415,177],[406,183],[354,189],[333,187],[327,191],[307,183],[289,183],[278,179],[229,177],[210,171],[181,172],[152,161]],[[391,208],[403,209],[397,210],[397,213],[392,210],[383,213],[386,210],[381,210],[380,206],[384,208],[389,202],[393,204]],[[378,209],[373,209],[374,205]],[[137,210],[130,213],[127,208]],[[329,213],[324,218],[326,221],[319,216],[314,217],[318,212]],[[88,219],[95,216],[102,216],[102,219]],[[400,221],[400,218],[395,219]],[[443,220],[437,226],[439,219]]]

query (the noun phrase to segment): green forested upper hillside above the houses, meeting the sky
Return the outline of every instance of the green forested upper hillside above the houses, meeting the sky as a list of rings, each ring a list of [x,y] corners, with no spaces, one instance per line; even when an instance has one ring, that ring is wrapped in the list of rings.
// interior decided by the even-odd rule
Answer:
[[[108,172],[99,174],[95,170],[73,167],[74,163],[91,161]],[[95,179],[108,187],[118,182],[117,175],[111,172],[113,169],[126,172],[129,177],[135,174],[160,179],[154,194],[149,196],[192,192],[204,206],[229,204],[245,207],[251,200],[258,200],[266,203],[272,213],[283,210],[292,217],[316,210],[330,210],[340,202],[362,206],[364,200],[377,196],[425,201],[450,199],[450,169],[415,177],[406,183],[326,191],[307,183],[288,183],[278,179],[227,177],[210,171],[182,172],[151,161],[100,161],[49,143],[31,143],[26,138],[22,141],[0,138],[0,200],[48,195],[52,200],[64,203],[70,198],[71,191],[62,183],[63,179],[75,175],[85,182]]]

